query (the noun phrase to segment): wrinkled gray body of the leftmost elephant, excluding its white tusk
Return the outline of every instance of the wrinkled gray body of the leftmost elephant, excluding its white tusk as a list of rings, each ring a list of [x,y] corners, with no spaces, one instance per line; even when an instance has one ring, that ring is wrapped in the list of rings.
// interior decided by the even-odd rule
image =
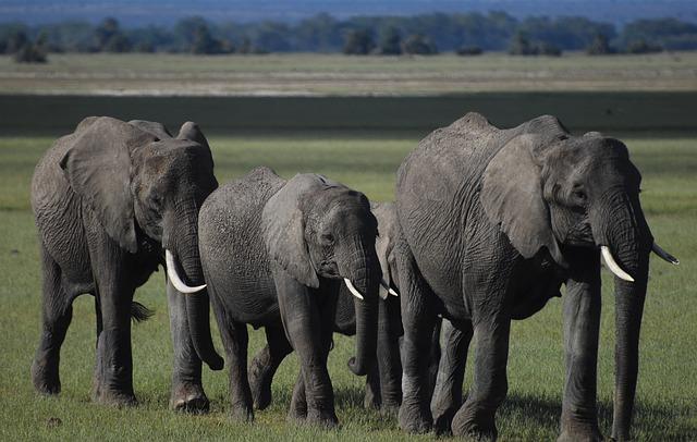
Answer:
[[[159,123],[91,116],[53,144],[32,182],[44,271],[41,334],[32,365],[37,391],[60,392],[60,347],[72,303],[90,294],[97,315],[93,398],[136,403],[131,316],[148,312],[132,304],[134,291],[163,265],[163,248],[175,256],[185,282],[203,283],[197,214],[217,186],[208,143],[195,123],[184,123],[173,138]],[[207,409],[201,359],[213,369],[223,364],[210,340],[208,296],[185,299],[170,283],[167,292],[175,349],[172,406]],[[200,336],[197,346],[194,336]]]

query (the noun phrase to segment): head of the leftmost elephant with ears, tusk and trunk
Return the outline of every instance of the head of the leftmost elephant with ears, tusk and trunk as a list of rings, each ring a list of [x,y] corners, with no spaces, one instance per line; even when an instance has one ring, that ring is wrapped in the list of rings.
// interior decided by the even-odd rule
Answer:
[[[60,165],[114,243],[131,254],[148,251],[152,243],[161,245],[175,288],[194,293],[205,287],[198,209],[218,182],[210,148],[195,123],[184,123],[173,138],[159,123],[89,118],[78,125]],[[208,308],[206,292],[187,297],[196,351],[211,368],[220,369]]]

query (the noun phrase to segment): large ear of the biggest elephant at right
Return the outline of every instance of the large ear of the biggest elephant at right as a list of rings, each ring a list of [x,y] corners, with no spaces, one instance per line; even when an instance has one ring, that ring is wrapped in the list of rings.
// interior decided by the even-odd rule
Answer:
[[[539,137],[531,134],[511,139],[487,165],[479,199],[489,221],[501,226],[523,257],[547,247],[566,267],[542,197],[541,168],[533,158],[538,144]]]

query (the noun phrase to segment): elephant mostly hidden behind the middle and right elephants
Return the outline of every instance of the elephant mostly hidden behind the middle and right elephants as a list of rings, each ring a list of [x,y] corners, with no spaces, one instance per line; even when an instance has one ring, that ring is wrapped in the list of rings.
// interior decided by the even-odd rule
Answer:
[[[396,229],[396,212],[392,202],[372,202],[370,210],[378,221],[378,236],[375,248],[380,261],[382,280],[395,292],[396,268],[393,250],[393,237]],[[402,403],[402,364],[400,361],[400,336],[402,316],[400,300],[380,286],[380,302],[377,329],[377,364],[372,365],[366,378],[366,408],[396,410]],[[340,285],[337,302],[334,332],[353,336],[356,334],[356,311],[363,302],[351,294],[345,284]],[[271,404],[271,382],[279,365],[288,353],[272,354],[269,346],[257,353],[249,368],[252,396],[257,409]],[[436,361],[437,364],[437,361]]]

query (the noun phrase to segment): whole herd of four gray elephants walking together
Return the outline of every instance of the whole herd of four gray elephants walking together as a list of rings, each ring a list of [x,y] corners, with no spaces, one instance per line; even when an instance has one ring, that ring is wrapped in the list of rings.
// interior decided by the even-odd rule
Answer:
[[[367,375],[367,407],[396,413],[408,432],[493,440],[511,320],[539,311],[564,284],[559,440],[601,440],[602,256],[615,275],[612,437],[629,439],[649,255],[677,263],[653,242],[640,181],[620,140],[573,136],[549,115],[500,130],[467,113],[419,143],[396,172],[395,201],[382,204],[319,174],[285,180],[265,167],[219,185],[195,123],[172,135],[159,123],[87,118],[46,152],[32,182],[44,278],[35,389],[60,392],[72,302],[90,294],[93,398],[135,404],[131,320],[150,312],[133,295],[161,265],[172,408],[208,409],[203,363],[223,368],[212,306],[237,419],[270,404],[273,375],[295,351],[289,419],[337,426],[327,358],[339,332],[356,336],[348,368]],[[267,337],[250,364],[247,324]]]

